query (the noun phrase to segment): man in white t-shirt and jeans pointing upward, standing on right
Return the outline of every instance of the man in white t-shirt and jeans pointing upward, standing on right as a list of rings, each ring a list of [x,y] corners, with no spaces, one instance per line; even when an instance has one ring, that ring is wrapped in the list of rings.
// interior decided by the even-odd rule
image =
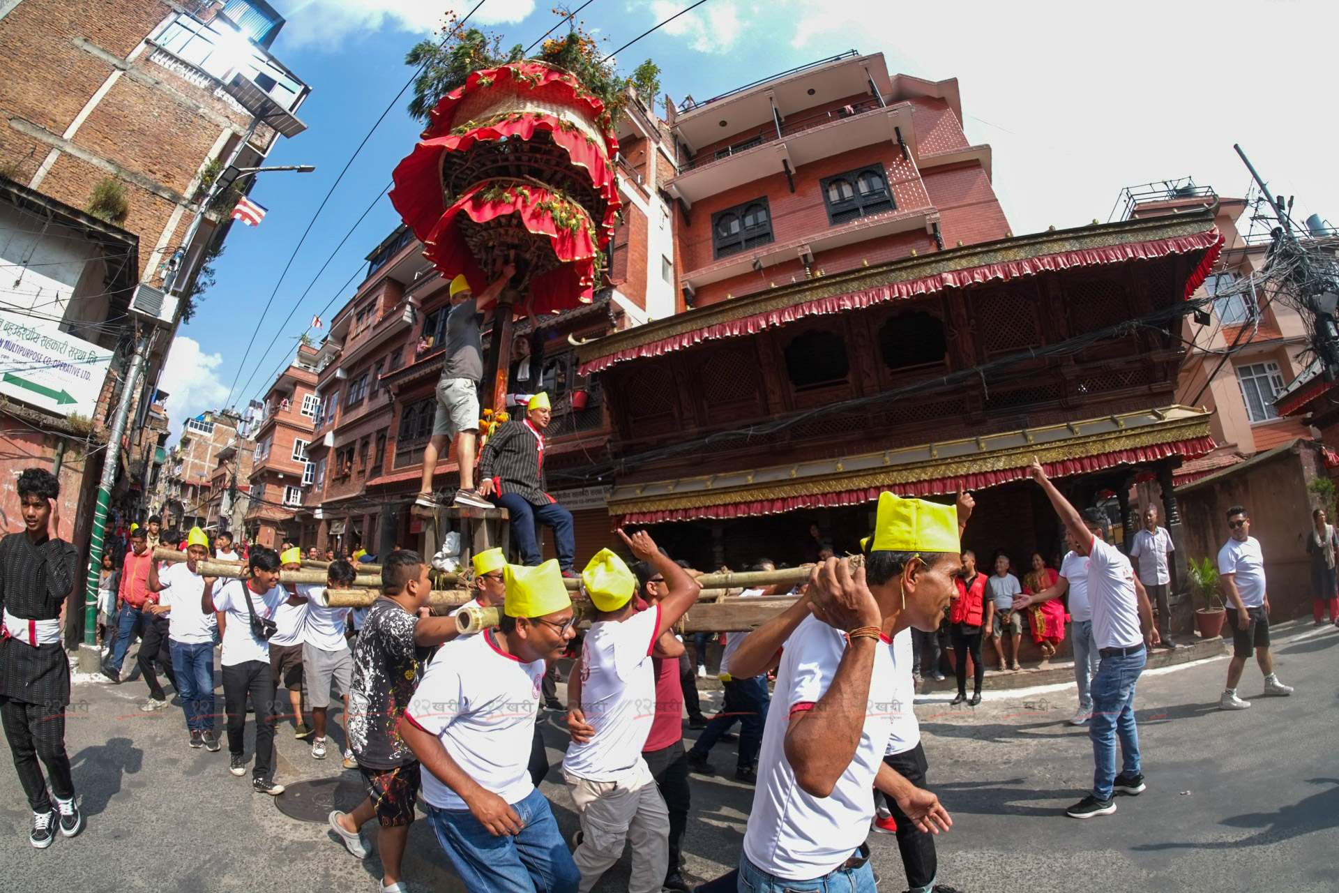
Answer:
[[[1087,594],[1093,608],[1093,636],[1102,663],[1093,677],[1093,793],[1065,810],[1070,818],[1093,818],[1115,811],[1114,793],[1144,791],[1139,731],[1134,724],[1134,685],[1144,672],[1148,649],[1158,643],[1153,608],[1130,560],[1106,541],[1106,515],[1099,509],[1082,514],[1070,505],[1042,463],[1032,459],[1036,481],[1069,530],[1074,550],[1089,557]],[[1027,601],[1015,601],[1018,606]],[[1122,771],[1115,774],[1115,739],[1121,739]]]

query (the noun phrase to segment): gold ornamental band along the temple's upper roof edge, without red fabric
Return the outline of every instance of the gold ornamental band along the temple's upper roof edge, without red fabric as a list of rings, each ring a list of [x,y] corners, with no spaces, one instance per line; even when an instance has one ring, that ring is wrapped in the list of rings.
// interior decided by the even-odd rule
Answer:
[[[1145,220],[1099,224],[1060,232],[1016,236],[980,245],[951,248],[925,257],[905,257],[877,266],[856,268],[817,280],[786,284],[758,295],[712,304],[686,313],[676,313],[663,323],[647,323],[588,343],[577,349],[577,359],[585,364],[619,351],[627,351],[664,339],[698,332],[711,325],[781,311],[798,304],[862,292],[882,285],[893,285],[927,276],[939,276],[992,264],[1031,260],[1047,254],[1111,248],[1156,240],[1197,236],[1213,229],[1212,210],[1153,217]],[[929,295],[927,295],[929,297]]]

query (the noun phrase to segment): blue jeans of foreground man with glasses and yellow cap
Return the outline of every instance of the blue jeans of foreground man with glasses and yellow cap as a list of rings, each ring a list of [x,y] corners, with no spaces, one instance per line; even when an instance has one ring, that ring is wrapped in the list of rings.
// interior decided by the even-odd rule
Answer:
[[[576,893],[581,882],[568,843],[538,789],[511,809],[521,833],[493,834],[467,809],[424,805],[427,822],[467,890],[490,893]]]

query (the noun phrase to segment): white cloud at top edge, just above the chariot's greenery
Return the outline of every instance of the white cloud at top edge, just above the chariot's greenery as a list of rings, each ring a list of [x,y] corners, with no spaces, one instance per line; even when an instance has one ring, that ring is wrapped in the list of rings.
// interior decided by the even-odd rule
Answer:
[[[351,35],[382,28],[427,36],[442,27],[446,13],[467,13],[473,3],[438,5],[432,0],[304,0],[285,13],[283,40],[287,47],[331,50]],[[534,11],[534,0],[487,0],[470,24],[494,25],[521,21]]]

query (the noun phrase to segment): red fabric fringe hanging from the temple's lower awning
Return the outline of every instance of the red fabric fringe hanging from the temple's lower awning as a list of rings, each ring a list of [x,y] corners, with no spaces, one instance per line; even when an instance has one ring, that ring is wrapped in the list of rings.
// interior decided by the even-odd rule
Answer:
[[[1129,450],[1115,450],[1099,455],[1081,459],[1066,459],[1065,462],[1044,462],[1047,475],[1065,477],[1070,474],[1083,474],[1087,471],[1102,471],[1118,465],[1131,465],[1135,462],[1154,462],[1169,455],[1193,458],[1204,455],[1214,449],[1212,436],[1194,438],[1190,440],[1173,440],[1148,447],[1133,447]],[[945,493],[957,493],[957,487],[964,490],[981,490],[1011,481],[1026,481],[1031,478],[1027,466],[1004,469],[1002,471],[980,471],[951,478],[932,478],[913,483],[898,483],[886,487],[861,487],[858,490],[841,490],[836,493],[821,493],[803,497],[781,497],[777,499],[758,499],[749,502],[734,502],[728,505],[706,506],[702,509],[667,509],[664,511],[633,511],[616,517],[615,526],[624,523],[660,523],[663,521],[698,521],[703,518],[746,518],[759,514],[779,514],[797,509],[834,509],[838,506],[861,505],[878,499],[878,494],[890,490],[900,497],[925,497]]]

